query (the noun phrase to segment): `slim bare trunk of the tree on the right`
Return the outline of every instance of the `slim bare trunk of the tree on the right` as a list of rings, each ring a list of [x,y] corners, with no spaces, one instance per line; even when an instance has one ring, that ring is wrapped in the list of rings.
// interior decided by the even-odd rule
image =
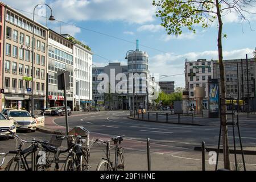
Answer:
[[[222,145],[224,155],[224,168],[230,169],[229,143],[228,143],[228,126],[226,125],[226,90],[225,90],[225,73],[222,55],[222,19],[219,2],[216,0],[217,17],[218,17],[218,61],[220,65],[220,89],[221,89],[221,126],[222,126]]]

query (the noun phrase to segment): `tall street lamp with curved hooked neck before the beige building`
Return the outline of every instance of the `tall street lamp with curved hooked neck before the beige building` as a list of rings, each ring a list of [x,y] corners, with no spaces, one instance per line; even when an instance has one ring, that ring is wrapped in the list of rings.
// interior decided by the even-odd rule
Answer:
[[[39,5],[46,5],[49,7],[49,5],[47,5],[46,3],[39,3],[38,5],[36,5],[34,7],[34,11],[33,11],[33,31],[32,31],[32,84],[31,84],[31,115],[34,115],[34,45],[35,45],[35,41],[34,41],[34,36],[35,36],[35,9],[36,7],[38,7]],[[49,20],[55,20],[54,16],[52,15],[52,9],[51,7],[49,7],[49,9],[51,10],[51,16],[49,16]],[[48,78],[47,78],[48,79]]]

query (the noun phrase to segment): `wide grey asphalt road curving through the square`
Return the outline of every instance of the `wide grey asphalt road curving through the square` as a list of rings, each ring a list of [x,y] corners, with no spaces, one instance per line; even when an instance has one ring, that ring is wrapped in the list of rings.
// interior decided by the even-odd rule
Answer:
[[[90,131],[90,139],[100,138],[108,140],[115,135],[126,135],[121,143],[125,148],[125,169],[147,170],[146,139],[151,140],[151,166],[153,170],[201,170],[201,152],[194,151],[204,140],[206,146],[217,146],[219,128],[214,126],[188,126],[167,123],[143,122],[128,119],[130,113],[126,111],[110,111],[86,113],[80,116],[69,117],[69,127],[84,126]],[[56,125],[65,127],[64,118],[56,118]],[[51,134],[20,133],[20,137],[31,139],[50,139]],[[229,128],[229,137],[232,136]],[[236,136],[237,132],[236,132]],[[250,127],[241,128],[243,146],[256,146],[256,131]],[[233,139],[229,138],[230,146]],[[239,141],[237,139],[237,145]],[[239,145],[238,145],[239,146]],[[15,140],[0,140],[0,152],[13,150]],[[65,147],[65,146],[64,146]],[[11,149],[10,149],[11,148]],[[94,144],[91,148],[90,164],[92,170],[104,157],[105,146]],[[113,153],[113,152],[112,152]],[[205,159],[206,169],[213,170],[214,165],[208,163],[208,152]],[[230,155],[232,168],[234,168],[234,155]],[[246,168],[256,170],[256,156],[246,155]],[[220,155],[220,168],[223,167],[222,154]],[[238,155],[238,163],[242,163]],[[240,165],[241,168],[241,165]]]

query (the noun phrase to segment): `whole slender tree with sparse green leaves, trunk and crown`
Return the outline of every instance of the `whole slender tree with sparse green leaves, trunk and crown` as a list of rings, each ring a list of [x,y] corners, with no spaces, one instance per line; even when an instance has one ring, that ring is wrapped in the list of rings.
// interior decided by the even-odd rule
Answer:
[[[241,17],[242,23],[247,21],[244,14],[252,14],[246,7],[253,6],[255,0],[160,0],[153,1],[152,5],[158,7],[156,16],[162,20],[161,25],[166,28],[168,35],[181,35],[182,28],[196,32],[195,24],[201,27],[209,27],[214,19],[218,21],[218,61],[220,64],[220,92],[221,103],[225,103],[225,78],[222,54],[222,16],[226,13],[235,12]],[[250,22],[249,22],[250,24]],[[224,167],[230,169],[228,127],[226,125],[226,106],[221,105],[222,144],[224,149]]]

